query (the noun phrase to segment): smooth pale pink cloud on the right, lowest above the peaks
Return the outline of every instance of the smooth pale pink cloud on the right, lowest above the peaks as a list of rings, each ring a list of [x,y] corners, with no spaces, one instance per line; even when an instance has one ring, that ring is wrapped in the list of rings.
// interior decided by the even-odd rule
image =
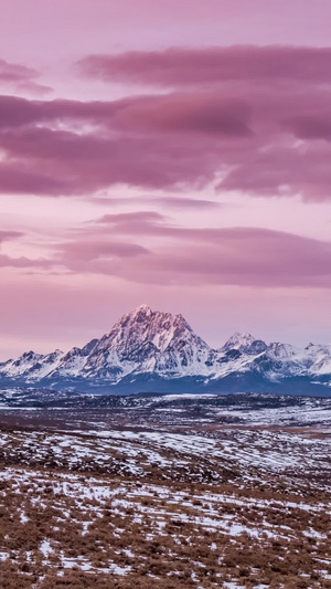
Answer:
[[[199,241],[200,238],[200,241]],[[199,243],[199,244],[197,244]],[[157,284],[205,284],[291,287],[331,286],[331,244],[254,229],[229,230],[218,243],[188,243],[160,250],[143,267],[132,269],[138,281]]]

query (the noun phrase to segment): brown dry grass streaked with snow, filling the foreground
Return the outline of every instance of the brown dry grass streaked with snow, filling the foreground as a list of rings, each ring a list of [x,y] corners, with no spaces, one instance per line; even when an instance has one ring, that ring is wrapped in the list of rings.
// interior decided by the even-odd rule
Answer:
[[[0,440],[0,587],[331,588],[318,472],[247,467],[235,437],[227,459],[166,438],[161,448],[8,429]]]

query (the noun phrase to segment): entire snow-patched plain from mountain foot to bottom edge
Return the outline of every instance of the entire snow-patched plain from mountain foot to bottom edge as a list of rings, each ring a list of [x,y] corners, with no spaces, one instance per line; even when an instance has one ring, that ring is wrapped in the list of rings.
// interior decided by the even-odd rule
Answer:
[[[260,395],[11,391],[0,579],[330,589],[330,411],[328,399]]]

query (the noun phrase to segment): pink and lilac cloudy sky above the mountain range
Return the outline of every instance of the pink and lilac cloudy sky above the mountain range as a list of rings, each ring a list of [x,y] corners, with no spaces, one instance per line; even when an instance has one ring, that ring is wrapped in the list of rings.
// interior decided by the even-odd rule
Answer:
[[[331,341],[330,22],[329,0],[2,0],[0,359],[141,303],[213,346]]]

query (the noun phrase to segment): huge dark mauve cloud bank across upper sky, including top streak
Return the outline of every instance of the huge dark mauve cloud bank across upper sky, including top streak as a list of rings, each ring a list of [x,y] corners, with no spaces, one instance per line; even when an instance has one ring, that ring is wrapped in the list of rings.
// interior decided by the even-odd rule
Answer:
[[[171,87],[108,102],[0,96],[0,192],[92,198],[127,186],[158,191],[166,208],[175,204],[171,192],[177,207],[182,194],[183,209],[203,200],[185,204],[190,190],[211,186],[225,194],[330,200],[330,52],[110,55],[98,57],[96,76],[110,64],[109,76],[136,72],[141,84]]]

